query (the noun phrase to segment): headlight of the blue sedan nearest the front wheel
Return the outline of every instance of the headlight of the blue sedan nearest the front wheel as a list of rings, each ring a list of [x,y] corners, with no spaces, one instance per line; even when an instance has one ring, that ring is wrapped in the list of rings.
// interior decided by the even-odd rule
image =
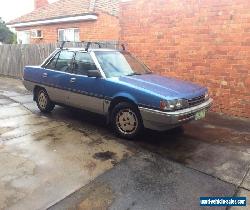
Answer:
[[[176,99],[171,101],[161,101],[160,109],[163,111],[174,111],[188,107],[188,101],[185,99]]]

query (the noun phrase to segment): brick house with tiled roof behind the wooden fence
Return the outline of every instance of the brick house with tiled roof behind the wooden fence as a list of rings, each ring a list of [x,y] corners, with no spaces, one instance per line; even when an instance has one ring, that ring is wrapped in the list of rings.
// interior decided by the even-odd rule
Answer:
[[[35,0],[33,12],[12,20],[19,43],[118,40],[118,0]]]

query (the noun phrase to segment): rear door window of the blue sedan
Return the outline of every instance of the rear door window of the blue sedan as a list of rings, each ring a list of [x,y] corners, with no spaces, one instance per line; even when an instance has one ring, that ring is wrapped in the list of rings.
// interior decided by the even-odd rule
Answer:
[[[71,51],[61,51],[55,66],[55,70],[69,72],[71,70],[72,59],[75,53]]]

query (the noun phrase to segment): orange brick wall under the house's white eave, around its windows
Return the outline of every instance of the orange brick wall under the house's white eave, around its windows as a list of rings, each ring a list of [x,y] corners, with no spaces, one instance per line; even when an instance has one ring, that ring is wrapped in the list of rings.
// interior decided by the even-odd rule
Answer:
[[[42,30],[43,39],[31,39],[32,43],[54,43],[58,40],[58,29],[79,28],[80,40],[118,40],[120,33],[119,19],[115,16],[99,12],[98,20],[74,23],[51,24],[16,28],[17,31],[39,29]]]

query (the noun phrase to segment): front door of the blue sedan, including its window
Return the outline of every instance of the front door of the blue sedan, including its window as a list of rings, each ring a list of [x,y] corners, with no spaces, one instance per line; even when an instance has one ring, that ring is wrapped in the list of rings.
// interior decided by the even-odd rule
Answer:
[[[91,112],[103,114],[103,85],[102,78],[88,77],[88,70],[97,70],[97,67],[88,52],[76,52],[73,74],[71,78],[70,103],[72,106]]]

